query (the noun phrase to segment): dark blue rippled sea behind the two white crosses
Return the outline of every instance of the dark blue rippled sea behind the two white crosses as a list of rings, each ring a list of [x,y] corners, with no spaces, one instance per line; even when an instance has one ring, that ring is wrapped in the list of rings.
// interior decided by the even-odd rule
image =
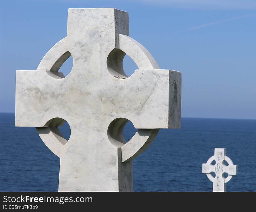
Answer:
[[[58,191],[59,158],[34,127],[15,127],[14,114],[0,113],[0,191]],[[69,127],[61,129],[69,136]],[[124,136],[136,130],[128,123]],[[256,191],[256,120],[182,118],[181,129],[161,129],[133,161],[134,191],[212,191],[202,163],[226,148],[238,165],[227,191]]]

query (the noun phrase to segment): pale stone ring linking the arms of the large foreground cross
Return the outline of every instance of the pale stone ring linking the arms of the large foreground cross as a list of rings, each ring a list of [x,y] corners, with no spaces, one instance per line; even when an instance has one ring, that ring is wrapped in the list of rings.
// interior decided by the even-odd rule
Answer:
[[[58,72],[58,70],[71,56],[68,49],[67,37],[65,37],[46,53],[37,70],[49,70],[46,73],[56,79],[65,78],[63,73]],[[125,54],[134,60],[139,69],[159,69],[157,62],[144,46],[127,35],[119,34],[119,48],[113,49],[106,60],[109,73],[117,79],[124,80],[128,78],[122,68]],[[121,148],[122,162],[129,161],[141,154],[151,144],[159,131],[159,129],[138,129],[131,140],[126,143],[123,137],[123,129],[128,121],[126,118],[116,118],[108,127],[110,142]],[[67,143],[58,129],[58,126],[63,125],[63,123],[65,123],[64,119],[53,118],[45,124],[48,125],[47,128],[36,127],[47,147],[59,157],[63,145]]]

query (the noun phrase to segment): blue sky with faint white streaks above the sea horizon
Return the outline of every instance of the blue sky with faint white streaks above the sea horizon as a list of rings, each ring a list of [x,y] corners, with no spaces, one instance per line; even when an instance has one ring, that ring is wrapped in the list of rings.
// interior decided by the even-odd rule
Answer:
[[[2,1],[0,112],[15,111],[15,71],[36,69],[66,36],[67,9],[94,7],[129,12],[130,36],[182,72],[182,117],[256,119],[255,0]],[[127,56],[124,67],[136,69]]]

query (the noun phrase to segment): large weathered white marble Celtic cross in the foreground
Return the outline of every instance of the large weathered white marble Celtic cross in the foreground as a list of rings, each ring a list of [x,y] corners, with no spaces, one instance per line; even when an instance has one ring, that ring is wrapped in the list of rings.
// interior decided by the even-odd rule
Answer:
[[[130,77],[128,54],[138,66]],[[72,55],[68,76],[59,73]],[[36,127],[60,157],[59,191],[133,191],[132,159],[159,128],[179,128],[181,73],[159,69],[129,37],[128,13],[114,8],[69,9],[67,37],[37,70],[16,72],[15,126]],[[129,142],[128,121],[138,129]],[[67,121],[67,141],[58,127]]]

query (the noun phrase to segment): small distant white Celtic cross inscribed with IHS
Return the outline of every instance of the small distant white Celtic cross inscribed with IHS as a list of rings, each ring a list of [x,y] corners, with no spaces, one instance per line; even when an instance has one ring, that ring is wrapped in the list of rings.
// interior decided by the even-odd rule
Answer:
[[[214,161],[215,164],[212,165]],[[225,161],[228,166],[225,165]],[[215,173],[215,177],[211,175],[212,172]],[[215,148],[214,156],[202,165],[202,173],[207,174],[209,180],[213,182],[213,191],[226,191],[226,183],[230,181],[233,175],[237,175],[237,165],[234,165],[232,160],[226,156],[226,149]],[[226,178],[224,173],[228,174]]]

